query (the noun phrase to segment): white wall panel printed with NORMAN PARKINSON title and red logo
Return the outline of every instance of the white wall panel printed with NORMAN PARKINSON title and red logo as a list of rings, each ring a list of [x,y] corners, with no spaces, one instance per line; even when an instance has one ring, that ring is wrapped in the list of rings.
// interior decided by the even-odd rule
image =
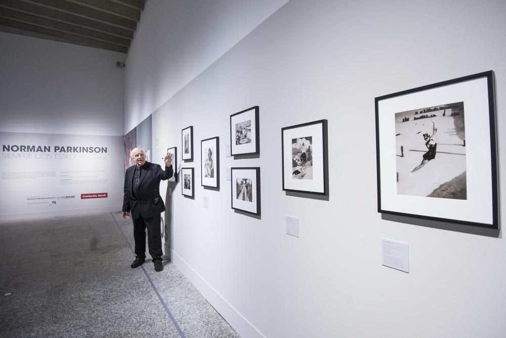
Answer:
[[[0,219],[121,210],[121,136],[0,132],[0,146]]]

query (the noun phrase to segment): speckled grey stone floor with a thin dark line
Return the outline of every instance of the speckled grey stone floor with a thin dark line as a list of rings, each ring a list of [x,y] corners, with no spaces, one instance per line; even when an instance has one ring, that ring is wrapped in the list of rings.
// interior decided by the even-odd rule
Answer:
[[[170,261],[131,269],[133,246],[120,213],[0,222],[0,336],[239,336]]]

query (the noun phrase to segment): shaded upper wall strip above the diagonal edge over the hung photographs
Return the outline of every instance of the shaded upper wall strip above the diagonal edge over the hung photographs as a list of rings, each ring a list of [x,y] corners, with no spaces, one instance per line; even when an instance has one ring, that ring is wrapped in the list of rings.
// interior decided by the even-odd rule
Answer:
[[[125,133],[287,1],[147,1],[126,64]]]

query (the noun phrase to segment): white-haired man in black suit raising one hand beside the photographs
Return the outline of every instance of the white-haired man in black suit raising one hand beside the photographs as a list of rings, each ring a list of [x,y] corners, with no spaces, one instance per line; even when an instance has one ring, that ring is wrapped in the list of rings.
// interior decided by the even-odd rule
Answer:
[[[162,271],[160,213],[165,205],[160,197],[160,180],[172,177],[171,155],[165,156],[165,171],[158,164],[146,162],[144,149],[137,147],[130,156],[136,163],[126,169],[122,216],[131,216],[134,222],[135,260],[131,267],[137,268],[146,258],[146,228],[148,229],[148,248],[155,271]]]

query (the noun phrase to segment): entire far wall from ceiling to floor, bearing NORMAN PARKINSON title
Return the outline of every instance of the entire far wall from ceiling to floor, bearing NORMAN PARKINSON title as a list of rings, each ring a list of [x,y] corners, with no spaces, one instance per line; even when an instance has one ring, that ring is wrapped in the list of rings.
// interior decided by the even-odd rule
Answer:
[[[2,148],[2,184],[10,194],[3,195],[9,203],[2,203],[0,218],[119,210],[124,69],[116,68],[116,62],[124,62],[125,55],[4,32],[0,32],[0,50],[2,143],[50,147],[48,152]],[[60,151],[54,146],[60,146]],[[107,153],[67,154],[61,146],[107,147]],[[86,170],[94,172],[93,182],[90,175],[86,181],[77,177]],[[37,171],[52,174],[31,177]],[[73,172],[72,184],[68,177],[60,177],[60,171]],[[6,173],[11,178],[16,173],[16,178],[4,181]],[[90,198],[95,193],[108,195]],[[81,194],[90,199],[81,199]],[[33,202],[28,198],[49,204],[28,205]]]

